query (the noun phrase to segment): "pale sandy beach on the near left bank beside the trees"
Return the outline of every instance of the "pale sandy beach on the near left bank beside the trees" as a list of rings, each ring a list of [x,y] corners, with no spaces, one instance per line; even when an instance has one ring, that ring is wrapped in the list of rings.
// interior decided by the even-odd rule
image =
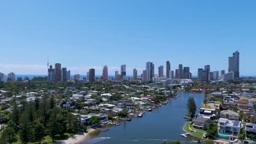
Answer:
[[[59,141],[59,142],[56,142],[56,143],[62,143],[62,144],[80,143],[80,142],[83,142],[85,139],[87,139],[89,133],[91,133],[92,131],[95,131],[95,129],[89,129],[88,133],[77,134],[77,135],[74,135],[72,137],[69,137],[67,140],[62,140],[62,141]]]

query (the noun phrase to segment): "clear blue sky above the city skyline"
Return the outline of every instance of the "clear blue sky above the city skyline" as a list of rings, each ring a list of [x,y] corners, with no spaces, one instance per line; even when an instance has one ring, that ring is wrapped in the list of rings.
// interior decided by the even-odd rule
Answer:
[[[1,1],[0,71],[46,74],[49,62],[79,74],[127,65],[139,73],[171,61],[228,70],[240,51],[241,75],[256,75],[256,1]]]

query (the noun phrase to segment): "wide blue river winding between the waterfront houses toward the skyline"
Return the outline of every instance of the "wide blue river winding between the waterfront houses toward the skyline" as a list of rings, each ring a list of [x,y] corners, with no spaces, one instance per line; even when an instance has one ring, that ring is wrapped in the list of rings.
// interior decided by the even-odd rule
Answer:
[[[197,110],[203,103],[203,94],[177,92],[178,98],[167,105],[146,112],[142,118],[133,118],[131,122],[123,122],[117,127],[109,127],[109,131],[92,133],[86,144],[160,144],[162,141],[181,141],[196,143],[193,136],[182,137],[187,113],[187,101],[194,97]],[[199,111],[197,111],[198,113]],[[210,143],[202,141],[202,143]]]

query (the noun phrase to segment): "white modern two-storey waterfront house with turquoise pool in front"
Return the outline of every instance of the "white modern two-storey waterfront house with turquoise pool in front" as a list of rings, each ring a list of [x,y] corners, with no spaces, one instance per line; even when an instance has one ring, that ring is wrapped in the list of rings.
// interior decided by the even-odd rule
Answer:
[[[232,121],[228,118],[219,118],[218,135],[222,139],[235,140],[238,138],[241,130],[240,121]]]

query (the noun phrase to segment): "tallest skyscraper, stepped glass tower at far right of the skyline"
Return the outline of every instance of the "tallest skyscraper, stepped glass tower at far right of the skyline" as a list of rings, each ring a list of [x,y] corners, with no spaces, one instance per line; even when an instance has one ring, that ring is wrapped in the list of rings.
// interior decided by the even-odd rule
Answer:
[[[229,57],[229,72],[234,72],[235,79],[240,78],[239,73],[239,52],[236,51],[233,53],[232,57]]]

